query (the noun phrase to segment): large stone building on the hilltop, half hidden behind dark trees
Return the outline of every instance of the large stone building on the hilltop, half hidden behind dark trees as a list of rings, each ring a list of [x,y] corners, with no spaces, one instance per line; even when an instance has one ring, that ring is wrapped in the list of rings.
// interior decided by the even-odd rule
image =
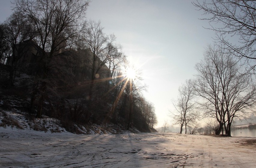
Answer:
[[[93,53],[90,49],[72,49],[61,45],[57,54],[51,58],[49,66],[52,67],[51,73],[56,74],[60,69],[69,72],[77,78],[78,81],[92,78]],[[49,53],[46,53],[49,54]],[[26,40],[17,44],[13,56],[8,57],[6,64],[16,66],[17,70],[26,72],[29,75],[38,75],[41,73],[42,63],[44,62],[44,51],[33,40]],[[109,80],[110,69],[96,59],[96,69],[99,69],[96,76],[97,80]]]

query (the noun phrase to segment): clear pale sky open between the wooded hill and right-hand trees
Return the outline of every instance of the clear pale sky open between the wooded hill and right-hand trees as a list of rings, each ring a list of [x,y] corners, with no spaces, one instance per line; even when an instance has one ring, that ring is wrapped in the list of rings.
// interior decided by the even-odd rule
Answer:
[[[201,1],[201,0],[200,0]],[[11,12],[9,0],[0,0],[0,22]],[[161,127],[173,110],[178,87],[196,74],[214,31],[190,0],[92,0],[87,19],[100,20],[105,34],[114,33],[131,63],[142,70],[148,85],[144,97],[155,106]],[[172,124],[172,122],[171,122]]]

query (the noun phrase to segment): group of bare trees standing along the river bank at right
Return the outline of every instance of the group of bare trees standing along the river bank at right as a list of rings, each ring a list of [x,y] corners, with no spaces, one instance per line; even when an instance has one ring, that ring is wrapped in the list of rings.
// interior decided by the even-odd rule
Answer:
[[[208,46],[204,59],[197,63],[195,80],[179,87],[178,99],[173,102],[175,124],[197,125],[201,118],[215,118],[215,134],[231,136],[234,118],[249,118],[255,112],[256,86],[250,74],[242,74],[240,66],[223,47]],[[200,111],[200,113],[198,112]]]

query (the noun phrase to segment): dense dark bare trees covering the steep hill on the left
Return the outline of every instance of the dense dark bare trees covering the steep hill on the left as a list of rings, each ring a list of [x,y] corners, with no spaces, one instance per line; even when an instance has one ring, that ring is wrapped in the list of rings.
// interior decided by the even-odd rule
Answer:
[[[30,113],[41,117],[45,111],[58,111],[85,123],[120,122],[122,117],[127,129],[137,113],[147,123],[143,129],[153,128],[157,123],[154,106],[141,94],[146,86],[139,74],[134,79],[125,74],[129,63],[115,35],[106,35],[100,22],[85,20],[88,5],[84,0],[14,2],[14,13],[0,25],[1,63],[12,58],[9,87],[14,85],[18,60],[26,53],[21,44],[31,40],[38,46],[40,59],[30,90]],[[108,78],[99,77],[102,71]],[[151,108],[145,108],[147,104]]]

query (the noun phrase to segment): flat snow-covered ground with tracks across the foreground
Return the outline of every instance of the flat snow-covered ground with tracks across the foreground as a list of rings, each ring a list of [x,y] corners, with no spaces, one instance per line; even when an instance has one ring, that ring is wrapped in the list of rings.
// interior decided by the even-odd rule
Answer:
[[[44,133],[0,127],[0,167],[256,167],[255,138]]]

